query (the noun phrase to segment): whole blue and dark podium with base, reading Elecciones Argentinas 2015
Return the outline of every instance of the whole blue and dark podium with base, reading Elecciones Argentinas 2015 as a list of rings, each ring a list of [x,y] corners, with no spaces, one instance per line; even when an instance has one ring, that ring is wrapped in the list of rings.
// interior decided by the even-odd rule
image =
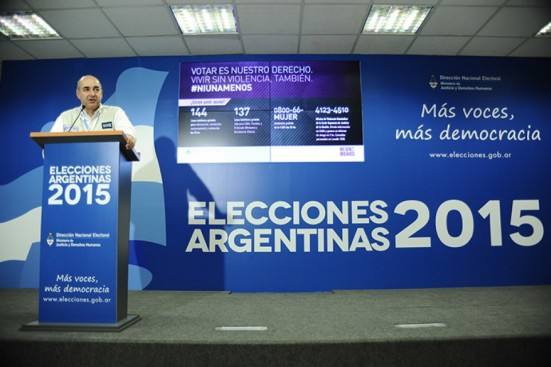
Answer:
[[[21,330],[120,331],[132,161],[122,131],[31,133],[44,148],[38,320]]]

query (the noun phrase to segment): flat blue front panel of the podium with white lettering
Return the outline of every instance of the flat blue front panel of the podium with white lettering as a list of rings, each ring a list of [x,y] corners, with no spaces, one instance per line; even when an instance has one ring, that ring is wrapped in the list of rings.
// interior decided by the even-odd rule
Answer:
[[[117,321],[118,142],[48,144],[41,323]]]

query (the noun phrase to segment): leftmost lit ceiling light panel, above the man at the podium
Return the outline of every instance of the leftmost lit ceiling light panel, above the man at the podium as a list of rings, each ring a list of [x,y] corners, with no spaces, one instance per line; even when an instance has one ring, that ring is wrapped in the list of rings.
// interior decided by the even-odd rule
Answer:
[[[1,14],[0,32],[13,40],[61,38],[44,19],[35,13]]]

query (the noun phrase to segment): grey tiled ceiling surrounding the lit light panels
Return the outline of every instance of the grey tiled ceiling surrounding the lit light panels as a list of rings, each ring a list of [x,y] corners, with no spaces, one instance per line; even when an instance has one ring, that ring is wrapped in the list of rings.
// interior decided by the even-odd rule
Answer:
[[[232,3],[238,35],[182,36],[169,6]],[[372,4],[434,6],[415,36],[362,35]],[[551,0],[0,0],[31,10],[61,40],[0,38],[0,60],[217,54],[551,57]],[[1,37],[1,36],[0,36]]]

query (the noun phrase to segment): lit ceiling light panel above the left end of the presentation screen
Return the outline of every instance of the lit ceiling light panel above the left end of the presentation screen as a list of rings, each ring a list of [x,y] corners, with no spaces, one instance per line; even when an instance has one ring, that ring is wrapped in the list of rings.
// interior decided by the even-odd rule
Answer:
[[[235,34],[233,6],[174,5],[170,7],[183,34]]]

